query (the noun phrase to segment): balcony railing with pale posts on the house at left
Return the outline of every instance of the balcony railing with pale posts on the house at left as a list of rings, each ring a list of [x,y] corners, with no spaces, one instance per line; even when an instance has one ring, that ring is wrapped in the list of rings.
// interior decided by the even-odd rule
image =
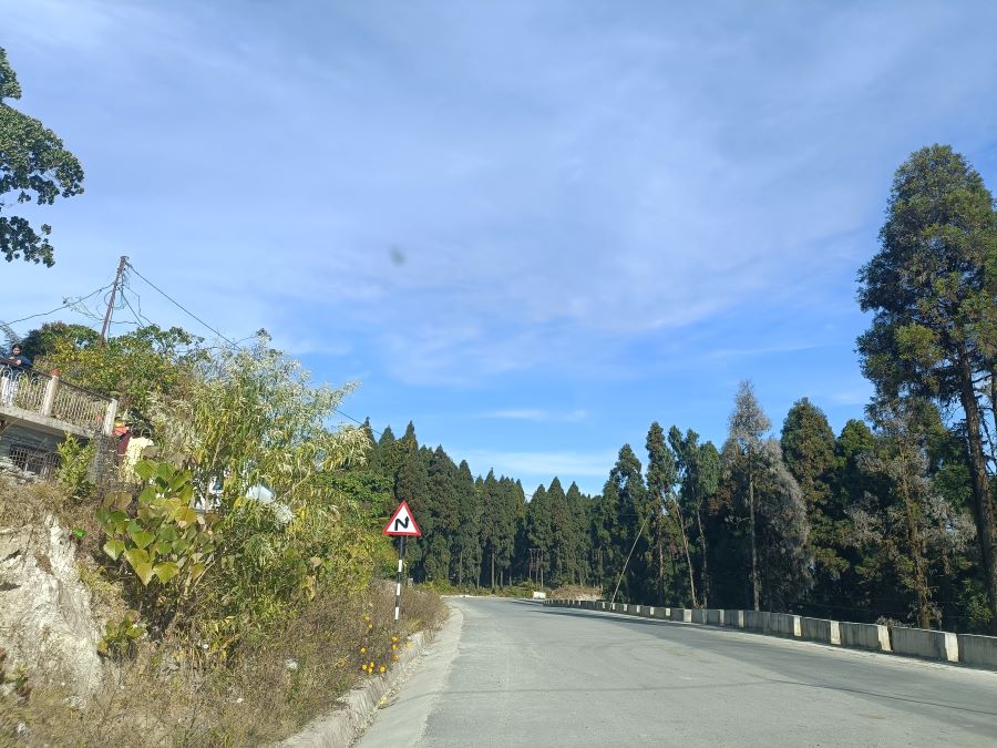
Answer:
[[[0,365],[0,408],[18,408],[91,433],[111,433],[117,401],[40,371]]]

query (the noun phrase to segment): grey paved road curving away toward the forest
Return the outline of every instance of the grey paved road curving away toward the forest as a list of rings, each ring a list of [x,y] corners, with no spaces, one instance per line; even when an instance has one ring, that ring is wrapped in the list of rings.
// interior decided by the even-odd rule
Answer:
[[[997,673],[527,601],[449,602],[451,624],[363,748],[997,745]]]

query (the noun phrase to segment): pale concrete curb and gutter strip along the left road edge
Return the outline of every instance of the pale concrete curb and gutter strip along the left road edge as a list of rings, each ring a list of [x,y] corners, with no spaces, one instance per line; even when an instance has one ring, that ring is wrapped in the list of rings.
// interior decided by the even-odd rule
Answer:
[[[326,748],[349,746],[377,713],[381,698],[405,675],[413,660],[422,654],[428,643],[425,632],[409,637],[398,664],[384,675],[368,677],[364,683],[339,699],[340,706],[332,713],[312,720],[304,730],[277,744],[280,748]]]

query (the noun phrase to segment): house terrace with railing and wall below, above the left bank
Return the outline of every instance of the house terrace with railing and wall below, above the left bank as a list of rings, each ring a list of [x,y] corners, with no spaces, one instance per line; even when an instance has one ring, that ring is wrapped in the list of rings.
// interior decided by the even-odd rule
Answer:
[[[0,458],[21,470],[51,477],[66,433],[81,441],[110,437],[116,412],[113,398],[56,376],[0,365]]]

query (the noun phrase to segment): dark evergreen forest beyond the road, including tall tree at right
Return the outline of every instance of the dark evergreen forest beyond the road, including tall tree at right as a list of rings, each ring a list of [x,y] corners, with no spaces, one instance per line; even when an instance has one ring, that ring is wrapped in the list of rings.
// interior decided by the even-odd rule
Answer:
[[[840,433],[806,397],[773,424],[744,381],[722,444],[655,421],[597,495],[475,477],[412,423],[401,438],[371,432],[354,479],[386,519],[409,502],[419,582],[993,631],[994,198],[950,147],[923,148],[896,173],[880,243],[859,273],[871,324],[857,352],[875,395]]]

